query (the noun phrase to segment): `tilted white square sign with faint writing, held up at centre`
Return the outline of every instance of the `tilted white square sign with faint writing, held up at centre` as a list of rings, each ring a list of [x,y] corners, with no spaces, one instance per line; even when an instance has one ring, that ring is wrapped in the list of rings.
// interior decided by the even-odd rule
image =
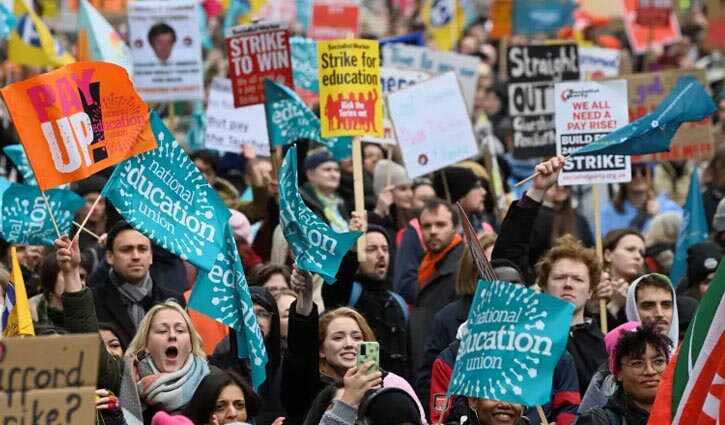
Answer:
[[[412,179],[478,154],[453,72],[392,93],[388,111]]]

